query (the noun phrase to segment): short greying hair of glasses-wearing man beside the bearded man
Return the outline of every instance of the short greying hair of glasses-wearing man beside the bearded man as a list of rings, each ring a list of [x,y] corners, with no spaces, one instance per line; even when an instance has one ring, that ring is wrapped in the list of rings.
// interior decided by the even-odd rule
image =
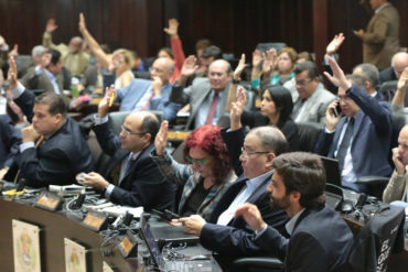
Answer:
[[[284,153],[288,149],[287,139],[277,128],[269,126],[257,127],[251,129],[249,133],[255,134],[259,139],[259,143],[265,151],[273,152],[276,156]]]

